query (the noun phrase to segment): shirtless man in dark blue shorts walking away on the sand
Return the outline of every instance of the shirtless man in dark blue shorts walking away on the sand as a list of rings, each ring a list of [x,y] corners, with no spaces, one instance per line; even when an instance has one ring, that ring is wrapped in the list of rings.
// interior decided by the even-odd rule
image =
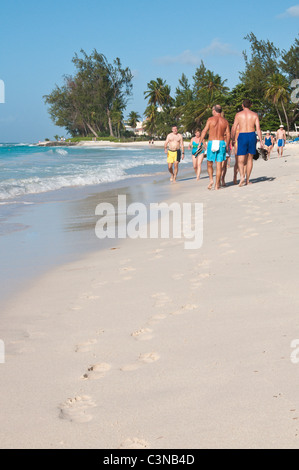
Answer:
[[[244,100],[242,104],[243,111],[235,116],[235,122],[232,127],[232,144],[235,144],[235,135],[237,129],[238,136],[238,167],[240,172],[239,186],[251,184],[249,178],[253,167],[253,155],[256,153],[256,133],[260,139],[261,147],[264,147],[260,128],[259,117],[250,110],[251,101]],[[246,170],[245,170],[246,167]]]

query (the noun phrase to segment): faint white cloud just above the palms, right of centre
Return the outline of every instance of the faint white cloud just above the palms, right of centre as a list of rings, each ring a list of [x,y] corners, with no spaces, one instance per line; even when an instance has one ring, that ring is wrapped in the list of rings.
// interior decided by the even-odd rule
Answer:
[[[213,39],[213,41],[206,47],[200,49],[197,52],[192,52],[189,49],[183,51],[181,54],[176,56],[164,56],[159,57],[155,60],[158,64],[169,65],[169,64],[185,64],[185,65],[199,65],[201,60],[206,56],[217,55],[240,55],[240,53],[234,50],[230,44],[220,42],[219,39]]]

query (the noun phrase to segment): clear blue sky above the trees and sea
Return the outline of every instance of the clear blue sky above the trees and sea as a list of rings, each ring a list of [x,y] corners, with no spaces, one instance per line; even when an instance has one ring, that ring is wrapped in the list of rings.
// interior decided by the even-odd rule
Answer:
[[[297,0],[298,1],[298,0]],[[84,49],[119,57],[134,74],[131,110],[143,114],[147,83],[161,77],[174,93],[184,72],[192,80],[201,59],[231,88],[244,69],[244,36],[251,31],[288,49],[299,31],[296,0],[10,0],[1,2],[0,142],[37,142],[66,135],[55,127],[43,95]],[[298,77],[299,78],[299,77]],[[1,93],[0,93],[1,97]]]

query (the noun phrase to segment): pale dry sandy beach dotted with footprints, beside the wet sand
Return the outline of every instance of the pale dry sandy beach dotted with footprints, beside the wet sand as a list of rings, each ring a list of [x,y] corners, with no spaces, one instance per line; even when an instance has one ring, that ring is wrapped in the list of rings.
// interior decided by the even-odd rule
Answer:
[[[298,447],[299,145],[232,174],[164,183],[203,203],[199,249],[115,240],[7,303],[1,448]]]

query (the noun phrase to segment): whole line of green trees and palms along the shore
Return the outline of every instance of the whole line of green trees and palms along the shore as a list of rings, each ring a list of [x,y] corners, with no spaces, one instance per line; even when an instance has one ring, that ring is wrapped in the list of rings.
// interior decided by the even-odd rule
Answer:
[[[156,138],[165,138],[176,124],[181,132],[193,133],[202,128],[215,103],[223,108],[230,124],[240,111],[245,98],[259,115],[263,129],[276,129],[284,124],[289,131],[299,117],[299,106],[292,102],[292,81],[299,79],[299,37],[289,50],[280,50],[269,40],[259,40],[253,33],[249,42],[250,56],[243,52],[245,67],[239,83],[231,90],[227,80],[206,68],[203,61],[190,82],[183,73],[174,94],[161,77],[151,80],[144,92],[145,130]],[[62,87],[44,97],[49,113],[57,126],[72,136],[124,134],[124,112],[132,95],[133,75],[123,68],[120,59],[109,64],[96,50],[88,56],[76,54],[74,76],[65,76]],[[141,116],[131,111],[128,124],[136,127]]]

